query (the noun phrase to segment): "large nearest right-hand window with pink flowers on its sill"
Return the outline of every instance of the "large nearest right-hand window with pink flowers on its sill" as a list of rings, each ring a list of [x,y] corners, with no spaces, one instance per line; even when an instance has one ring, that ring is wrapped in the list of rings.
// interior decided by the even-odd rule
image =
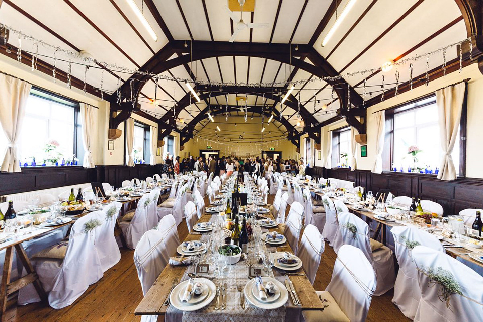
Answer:
[[[464,111],[462,124],[463,118],[465,119]],[[460,131],[451,154],[458,175],[464,172],[460,167],[460,151],[464,149],[464,144],[460,140],[461,128],[460,124]],[[386,135],[384,169],[396,168],[400,171],[402,168],[403,172],[411,170],[417,173],[434,173],[436,168],[440,167],[443,151],[434,95],[386,111],[386,133],[388,131],[391,134],[391,141],[387,142]],[[392,149],[389,144],[392,145]],[[410,153],[412,150],[415,150],[415,155]]]

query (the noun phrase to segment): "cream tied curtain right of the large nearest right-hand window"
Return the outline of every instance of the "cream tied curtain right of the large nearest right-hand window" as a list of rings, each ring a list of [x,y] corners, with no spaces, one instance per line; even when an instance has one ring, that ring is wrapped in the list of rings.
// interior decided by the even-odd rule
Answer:
[[[441,167],[439,168],[438,179],[456,179],[456,169],[454,168],[451,152],[453,152],[456,137],[458,136],[465,88],[466,83],[463,82],[436,91],[439,135],[441,139],[441,148],[444,152],[443,159],[441,160]]]

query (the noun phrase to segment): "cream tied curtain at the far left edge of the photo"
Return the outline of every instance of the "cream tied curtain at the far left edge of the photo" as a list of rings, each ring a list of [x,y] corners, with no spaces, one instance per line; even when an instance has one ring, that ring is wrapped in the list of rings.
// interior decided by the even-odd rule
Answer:
[[[19,139],[31,88],[32,85],[21,79],[0,74],[0,124],[7,138],[0,171],[21,172]]]

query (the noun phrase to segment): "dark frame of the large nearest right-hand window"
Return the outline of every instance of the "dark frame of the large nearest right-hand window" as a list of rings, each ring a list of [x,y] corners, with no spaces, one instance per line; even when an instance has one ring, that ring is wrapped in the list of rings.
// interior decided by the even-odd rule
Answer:
[[[466,113],[467,113],[467,93],[468,87],[464,92],[463,107],[461,110],[461,120],[459,124],[459,173],[458,178],[466,177]],[[434,98],[434,100],[420,103],[427,99]],[[418,104],[420,103],[420,104]],[[382,169],[385,172],[393,172],[392,164],[394,162],[394,116],[412,111],[418,108],[426,107],[436,103],[436,94],[430,93],[405,103],[398,104],[385,110],[385,135],[384,135],[384,148],[382,152]],[[456,144],[456,143],[455,143]],[[406,172],[403,172],[406,173]],[[420,173],[418,173],[420,174]],[[435,174],[424,174],[429,176],[435,176]]]

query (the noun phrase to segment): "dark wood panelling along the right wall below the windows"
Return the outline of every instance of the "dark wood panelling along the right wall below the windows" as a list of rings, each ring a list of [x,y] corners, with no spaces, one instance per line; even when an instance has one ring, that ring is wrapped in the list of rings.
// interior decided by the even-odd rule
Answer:
[[[410,196],[432,200],[443,206],[444,215],[458,214],[466,208],[483,208],[483,179],[458,178],[443,181],[435,175],[399,172],[374,174],[367,170],[350,171],[342,168],[315,167],[312,173],[324,178],[349,180],[374,194],[390,188],[395,196]]]

